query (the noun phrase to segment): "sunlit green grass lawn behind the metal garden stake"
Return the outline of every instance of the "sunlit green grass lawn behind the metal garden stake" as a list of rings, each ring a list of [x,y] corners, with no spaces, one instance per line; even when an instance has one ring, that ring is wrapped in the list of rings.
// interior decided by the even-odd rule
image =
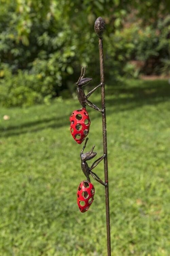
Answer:
[[[98,106],[99,92],[90,97]],[[106,86],[106,98],[112,254],[168,256],[170,85],[132,80]],[[79,107],[0,109],[0,255],[107,255],[104,187],[91,178],[95,201],[86,213],[77,206],[83,145],[69,116]],[[101,114],[87,110],[87,150],[95,144],[100,157]],[[104,179],[103,162],[94,171]]]

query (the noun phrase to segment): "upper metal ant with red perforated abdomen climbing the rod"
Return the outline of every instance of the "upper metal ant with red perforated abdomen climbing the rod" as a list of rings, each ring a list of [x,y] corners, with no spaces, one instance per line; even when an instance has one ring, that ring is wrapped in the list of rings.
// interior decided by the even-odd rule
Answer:
[[[85,72],[86,72],[87,66],[85,68],[81,69],[81,75],[75,83],[77,85],[77,97],[82,105],[81,109],[74,110],[70,116],[70,131],[71,134],[74,138],[74,140],[78,143],[81,144],[87,134],[89,133],[90,129],[90,119],[88,116],[88,112],[86,111],[86,104],[90,106],[91,108],[94,108],[98,110],[99,112],[103,113],[103,110],[98,108],[95,104],[90,102],[88,100],[88,97],[96,91],[96,89],[100,86],[102,86],[102,83],[97,85],[94,89],[92,89],[87,95],[85,95],[85,92],[83,90],[83,86],[87,85],[90,81],[92,81],[92,78],[84,78]]]

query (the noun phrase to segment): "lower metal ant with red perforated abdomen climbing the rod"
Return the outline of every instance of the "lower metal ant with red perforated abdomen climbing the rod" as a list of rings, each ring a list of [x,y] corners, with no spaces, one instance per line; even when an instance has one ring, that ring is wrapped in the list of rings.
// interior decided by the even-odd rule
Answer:
[[[86,138],[86,142],[85,142],[83,149],[80,153],[81,168],[82,168],[82,171],[83,171],[84,175],[86,176],[87,180],[83,180],[80,183],[80,185],[78,187],[78,191],[77,191],[77,203],[79,206],[79,210],[82,213],[86,212],[88,210],[88,208],[90,207],[90,205],[92,204],[92,202],[94,201],[95,188],[94,188],[93,184],[90,182],[90,177],[89,177],[90,174],[100,184],[102,184],[105,187],[107,186],[107,183],[104,183],[96,173],[91,171],[103,160],[103,158],[106,157],[106,155],[104,154],[103,156],[99,157],[91,165],[91,167],[89,167],[86,161],[94,158],[97,155],[97,153],[93,152],[95,145],[92,147],[91,151],[83,153],[83,151],[86,147],[86,144],[87,144],[87,140],[88,140],[88,138]]]

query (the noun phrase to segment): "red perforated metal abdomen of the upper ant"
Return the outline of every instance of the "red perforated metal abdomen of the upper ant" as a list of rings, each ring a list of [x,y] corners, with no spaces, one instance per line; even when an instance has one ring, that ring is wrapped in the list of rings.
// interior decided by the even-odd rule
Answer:
[[[90,129],[90,119],[86,108],[74,110],[70,116],[70,131],[74,140],[81,144]]]

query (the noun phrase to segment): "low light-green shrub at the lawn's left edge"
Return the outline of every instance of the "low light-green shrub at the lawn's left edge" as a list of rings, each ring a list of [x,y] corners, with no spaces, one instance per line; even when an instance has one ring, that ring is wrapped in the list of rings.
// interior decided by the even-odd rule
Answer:
[[[0,102],[2,106],[31,106],[49,102],[54,95],[53,86],[48,81],[42,81],[41,74],[33,75],[27,71],[18,70],[12,75],[11,70],[4,68],[0,71]]]

